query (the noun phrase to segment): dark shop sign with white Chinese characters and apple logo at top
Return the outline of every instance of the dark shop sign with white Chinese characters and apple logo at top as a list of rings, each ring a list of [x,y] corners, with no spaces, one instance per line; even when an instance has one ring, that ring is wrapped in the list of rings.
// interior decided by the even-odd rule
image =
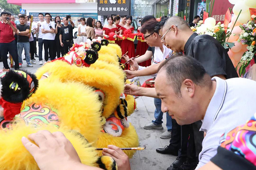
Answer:
[[[130,15],[131,0],[98,0],[98,15]]]

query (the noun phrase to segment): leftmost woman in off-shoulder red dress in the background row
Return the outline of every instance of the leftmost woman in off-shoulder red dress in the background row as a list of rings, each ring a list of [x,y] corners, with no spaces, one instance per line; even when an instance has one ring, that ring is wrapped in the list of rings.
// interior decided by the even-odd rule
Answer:
[[[113,24],[113,17],[107,16],[108,25],[104,25],[103,27],[103,38],[107,39],[109,43],[115,43],[116,40],[116,34],[118,31],[118,28],[116,25]]]

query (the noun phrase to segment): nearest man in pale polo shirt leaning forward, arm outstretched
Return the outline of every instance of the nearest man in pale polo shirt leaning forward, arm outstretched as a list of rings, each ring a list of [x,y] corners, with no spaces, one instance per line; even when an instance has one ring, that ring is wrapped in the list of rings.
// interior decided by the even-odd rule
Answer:
[[[211,77],[196,59],[172,57],[159,68],[154,88],[126,85],[131,95],[159,97],[161,109],[179,125],[202,120],[200,131],[206,136],[202,143],[197,168],[217,153],[220,137],[244,124],[256,112],[256,82],[245,78],[223,80]]]

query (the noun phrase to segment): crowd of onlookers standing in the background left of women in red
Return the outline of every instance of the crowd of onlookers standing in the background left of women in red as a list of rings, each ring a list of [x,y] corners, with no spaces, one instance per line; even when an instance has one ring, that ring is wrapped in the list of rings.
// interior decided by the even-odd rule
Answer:
[[[50,13],[39,13],[39,21],[31,23],[31,17],[31,15],[18,14],[18,20],[15,20],[15,17],[9,12],[1,13],[0,58],[4,63],[4,68],[10,68],[7,61],[8,53],[10,61],[15,63],[13,66],[15,69],[22,67],[23,60],[26,60],[26,66],[33,67],[32,64],[36,64],[35,57],[39,59],[39,64],[44,64],[56,57],[63,57],[74,44],[73,29],[75,25],[72,18],[60,18],[60,16],[52,18]],[[87,18],[87,21],[85,18],[80,18],[78,36],[83,38],[83,42],[87,38],[102,37],[102,23],[100,21],[95,23],[95,19],[90,17]],[[36,43],[37,41],[38,43]],[[24,59],[22,59],[23,49]]]

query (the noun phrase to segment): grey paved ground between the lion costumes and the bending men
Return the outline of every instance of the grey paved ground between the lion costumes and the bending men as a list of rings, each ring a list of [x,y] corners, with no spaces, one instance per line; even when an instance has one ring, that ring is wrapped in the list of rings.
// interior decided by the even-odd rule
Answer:
[[[44,54],[43,54],[44,56]],[[22,58],[25,58],[22,55]],[[34,67],[27,67],[26,61],[23,61],[22,69],[26,69],[32,73],[36,72],[39,65],[38,58]],[[9,60],[8,60],[9,63]],[[3,63],[0,63],[0,68],[3,68]],[[142,84],[145,80],[152,78],[151,76],[144,76],[140,78]],[[163,148],[169,145],[170,139],[160,139],[160,135],[164,133],[166,129],[166,115],[164,113],[163,118],[163,130],[146,130],[143,126],[151,123],[154,120],[154,99],[149,97],[139,97],[136,99],[138,111],[135,111],[128,117],[128,121],[134,125],[140,141],[140,147],[146,145],[146,150],[137,151],[136,154],[130,159],[132,170],[166,170],[172,162],[176,159],[176,156],[159,154],[156,152],[156,148]]]

